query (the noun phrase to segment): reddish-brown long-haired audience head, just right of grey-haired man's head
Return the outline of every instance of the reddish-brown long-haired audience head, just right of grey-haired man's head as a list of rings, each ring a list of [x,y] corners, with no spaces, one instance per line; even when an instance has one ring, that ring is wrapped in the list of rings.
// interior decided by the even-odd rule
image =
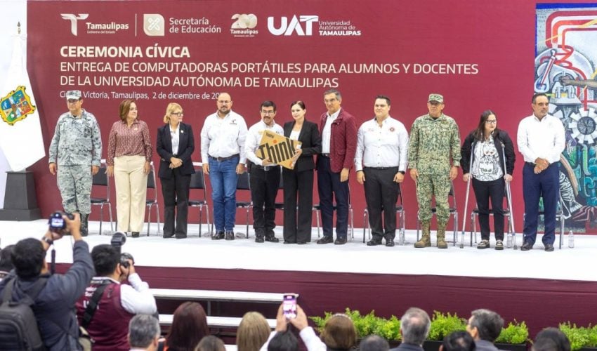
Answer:
[[[205,311],[199,303],[186,302],[174,311],[168,334],[168,350],[193,350],[199,341],[209,335]]]

